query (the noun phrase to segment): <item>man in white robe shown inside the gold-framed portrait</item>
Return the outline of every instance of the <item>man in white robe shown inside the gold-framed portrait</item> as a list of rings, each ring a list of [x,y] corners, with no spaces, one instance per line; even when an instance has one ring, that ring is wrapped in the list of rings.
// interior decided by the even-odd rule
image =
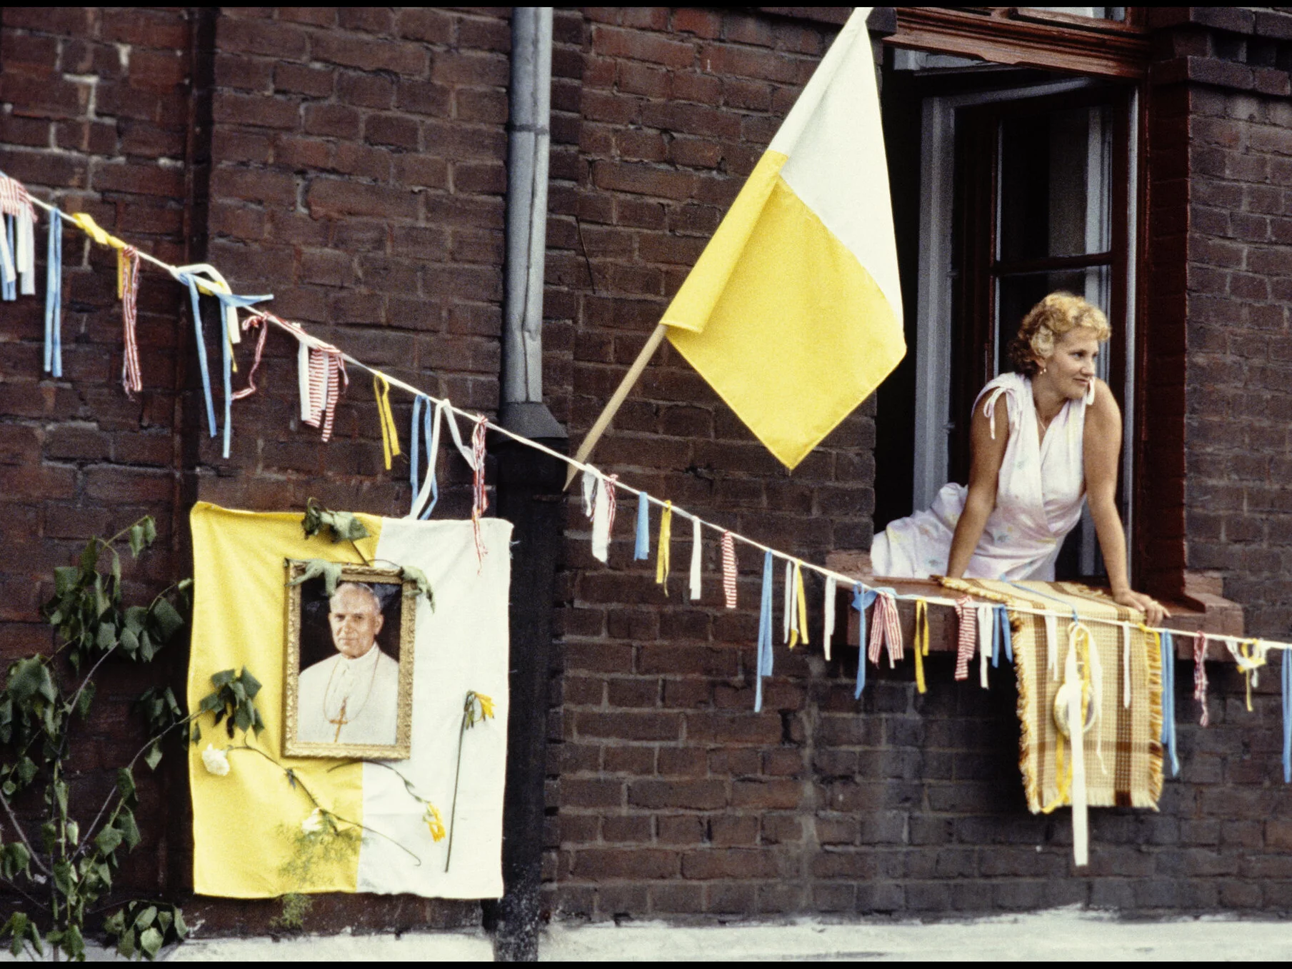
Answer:
[[[377,642],[388,620],[381,596],[370,584],[342,581],[327,599],[327,609],[331,655],[301,669],[296,739],[306,744],[394,744],[399,663]],[[398,627],[398,619],[391,621]]]

